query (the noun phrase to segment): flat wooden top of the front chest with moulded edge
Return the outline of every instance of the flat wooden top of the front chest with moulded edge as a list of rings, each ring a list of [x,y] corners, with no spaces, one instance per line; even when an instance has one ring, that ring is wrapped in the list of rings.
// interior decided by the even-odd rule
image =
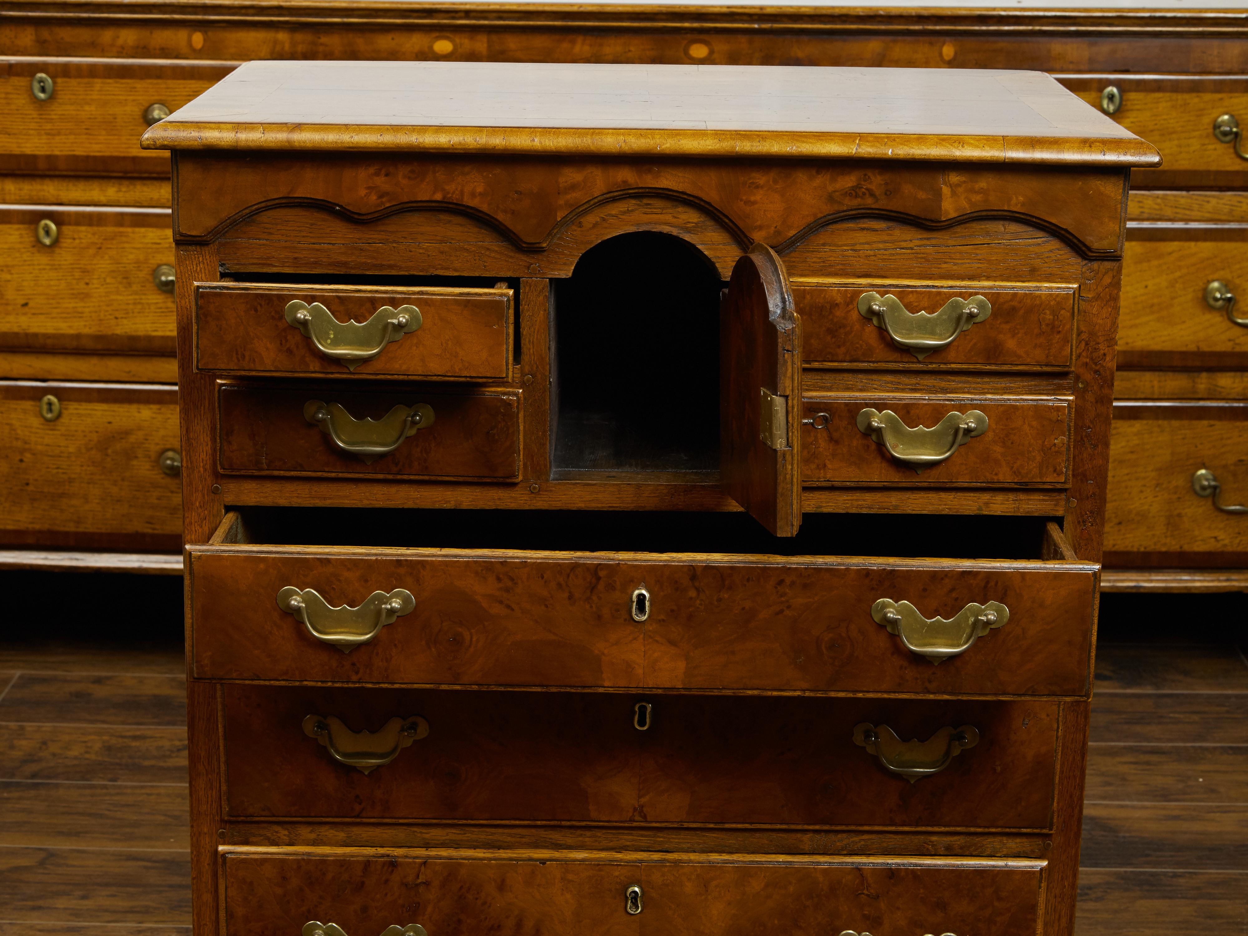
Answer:
[[[247,62],[146,149],[787,156],[1157,165],[1032,71]]]

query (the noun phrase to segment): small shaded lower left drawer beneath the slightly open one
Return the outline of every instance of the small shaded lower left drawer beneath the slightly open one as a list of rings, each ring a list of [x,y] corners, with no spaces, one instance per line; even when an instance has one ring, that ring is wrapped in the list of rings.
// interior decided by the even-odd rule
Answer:
[[[342,392],[341,386],[220,387],[221,470],[518,478],[518,393]]]

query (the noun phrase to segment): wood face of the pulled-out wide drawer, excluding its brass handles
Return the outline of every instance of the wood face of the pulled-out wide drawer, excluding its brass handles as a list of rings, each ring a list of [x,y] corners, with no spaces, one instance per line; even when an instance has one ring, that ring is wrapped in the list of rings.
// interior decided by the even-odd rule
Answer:
[[[1088,690],[1096,567],[1086,563],[188,548],[191,654],[201,679],[955,695]],[[630,598],[641,585],[649,613],[636,622]],[[316,589],[331,605],[357,607],[373,592],[398,588],[416,600],[369,643],[343,654],[278,607],[287,587]],[[912,602],[929,618],[1000,602],[1010,618],[934,666],[876,623],[872,607],[881,598]]]

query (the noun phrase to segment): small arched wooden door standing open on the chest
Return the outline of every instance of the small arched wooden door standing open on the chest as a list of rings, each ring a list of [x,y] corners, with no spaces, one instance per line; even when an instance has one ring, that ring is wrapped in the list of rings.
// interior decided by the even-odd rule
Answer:
[[[736,261],[719,311],[720,484],[778,537],[801,525],[801,323],[765,243]]]

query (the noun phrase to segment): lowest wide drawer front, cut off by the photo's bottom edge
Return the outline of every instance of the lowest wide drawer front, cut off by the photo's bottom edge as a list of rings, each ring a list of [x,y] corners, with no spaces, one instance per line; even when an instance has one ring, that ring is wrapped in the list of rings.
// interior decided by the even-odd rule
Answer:
[[[227,936],[1035,936],[1045,864],[589,852],[227,851]],[[985,921],[991,921],[986,930]]]

